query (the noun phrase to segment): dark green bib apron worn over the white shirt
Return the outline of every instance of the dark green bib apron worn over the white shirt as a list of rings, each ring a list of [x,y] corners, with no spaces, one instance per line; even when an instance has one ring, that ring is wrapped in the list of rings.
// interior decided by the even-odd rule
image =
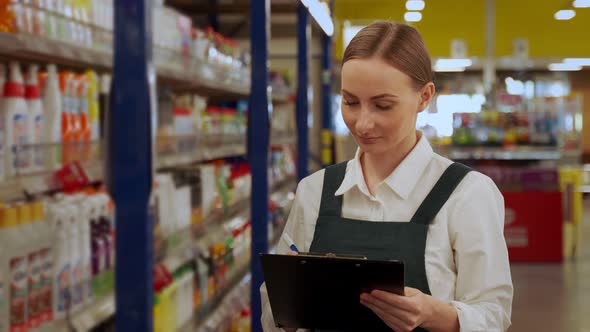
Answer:
[[[309,251],[363,255],[373,260],[403,261],[406,286],[431,295],[424,260],[428,225],[470,171],[470,168],[459,163],[450,165],[410,222],[370,222],[342,218],[343,196],[336,196],[335,193],[344,179],[346,163],[330,166],[326,168],[324,175],[322,201]],[[377,318],[376,315],[372,316],[374,317],[371,318]],[[351,330],[391,331],[378,318],[369,325],[371,326]],[[415,331],[425,330],[418,328]]]

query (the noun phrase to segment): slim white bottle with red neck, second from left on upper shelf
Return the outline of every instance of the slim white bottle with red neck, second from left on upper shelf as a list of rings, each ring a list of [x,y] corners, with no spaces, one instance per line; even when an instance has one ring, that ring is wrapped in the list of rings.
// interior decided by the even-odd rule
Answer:
[[[31,171],[43,170],[43,150],[40,144],[43,143],[43,103],[41,102],[41,93],[38,82],[37,65],[29,67],[27,84],[25,88],[25,97],[29,107],[27,136],[31,146],[26,153],[31,159]]]

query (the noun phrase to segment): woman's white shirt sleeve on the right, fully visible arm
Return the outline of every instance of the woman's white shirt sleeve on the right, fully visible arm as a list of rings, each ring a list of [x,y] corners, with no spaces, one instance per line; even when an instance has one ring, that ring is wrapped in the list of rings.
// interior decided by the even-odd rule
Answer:
[[[504,239],[504,198],[491,179],[475,177],[452,209],[449,235],[457,268],[455,301],[461,332],[510,327],[513,286]]]

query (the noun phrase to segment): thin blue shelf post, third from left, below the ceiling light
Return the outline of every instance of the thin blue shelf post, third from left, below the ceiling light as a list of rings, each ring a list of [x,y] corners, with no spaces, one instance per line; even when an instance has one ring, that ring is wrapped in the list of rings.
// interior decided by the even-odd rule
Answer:
[[[309,12],[301,1],[297,7],[297,178],[301,181],[308,174],[309,144],[307,117],[309,113],[309,41],[311,25]]]

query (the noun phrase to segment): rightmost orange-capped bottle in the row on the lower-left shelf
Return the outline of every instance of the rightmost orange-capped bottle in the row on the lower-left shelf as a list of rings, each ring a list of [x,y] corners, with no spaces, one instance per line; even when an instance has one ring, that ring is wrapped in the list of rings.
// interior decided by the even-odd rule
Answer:
[[[53,234],[45,215],[45,206],[41,201],[33,204],[33,219],[38,220],[40,259],[40,288],[38,291],[39,321],[46,326],[53,320],[52,283],[53,283]]]

